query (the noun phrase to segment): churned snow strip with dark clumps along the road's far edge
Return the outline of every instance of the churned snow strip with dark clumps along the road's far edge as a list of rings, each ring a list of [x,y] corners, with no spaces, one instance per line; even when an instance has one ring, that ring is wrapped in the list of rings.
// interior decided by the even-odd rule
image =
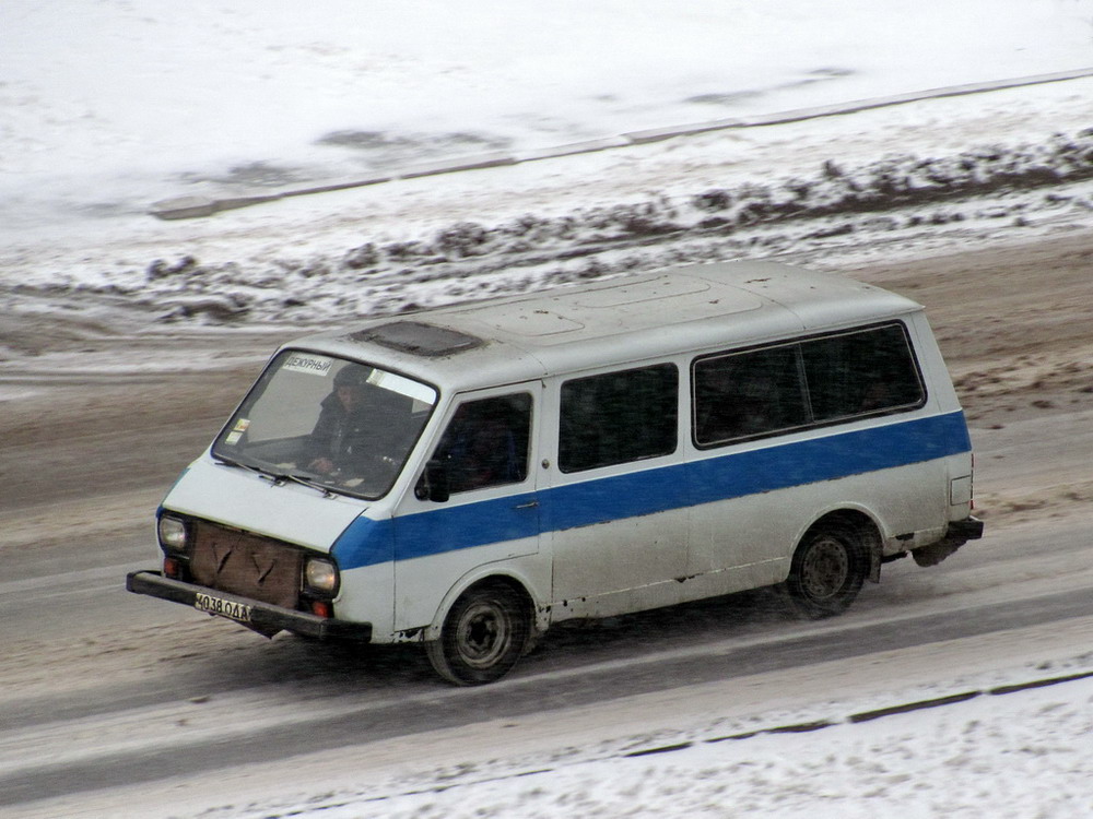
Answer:
[[[809,177],[709,188],[502,224],[458,222],[424,238],[331,249],[273,263],[157,259],[133,297],[165,321],[248,322],[414,309],[663,264],[788,252],[838,236],[1093,209],[1062,186],[1093,178],[1093,128],[1044,144],[980,146],[952,156],[893,155],[854,167],[831,158]],[[430,283],[442,287],[428,290]],[[122,289],[103,288],[114,295]]]

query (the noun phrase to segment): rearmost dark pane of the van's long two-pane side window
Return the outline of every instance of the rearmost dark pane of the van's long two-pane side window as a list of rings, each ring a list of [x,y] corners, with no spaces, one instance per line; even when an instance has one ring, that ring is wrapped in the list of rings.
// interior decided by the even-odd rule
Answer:
[[[926,397],[902,324],[815,339],[801,352],[818,423],[919,406]]]

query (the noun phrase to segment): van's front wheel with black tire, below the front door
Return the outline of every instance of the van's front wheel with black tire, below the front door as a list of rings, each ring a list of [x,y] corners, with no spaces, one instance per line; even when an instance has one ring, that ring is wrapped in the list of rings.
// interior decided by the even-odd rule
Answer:
[[[457,686],[501,679],[524,654],[530,616],[522,598],[502,583],[473,586],[444,619],[440,639],[425,643],[433,668]]]

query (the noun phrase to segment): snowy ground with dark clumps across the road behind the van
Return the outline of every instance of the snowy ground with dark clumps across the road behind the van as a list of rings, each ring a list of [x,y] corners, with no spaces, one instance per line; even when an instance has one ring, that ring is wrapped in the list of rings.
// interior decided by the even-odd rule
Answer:
[[[0,45],[4,282],[164,321],[345,321],[680,261],[921,252],[1093,209],[1083,79],[149,215],[1093,68],[1090,0],[16,0]]]

